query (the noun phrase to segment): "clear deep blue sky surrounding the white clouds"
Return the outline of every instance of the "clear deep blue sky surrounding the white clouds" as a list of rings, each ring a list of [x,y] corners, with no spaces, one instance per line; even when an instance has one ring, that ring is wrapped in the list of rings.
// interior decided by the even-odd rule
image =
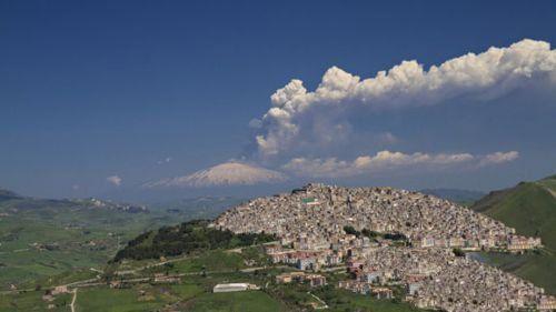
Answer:
[[[428,68],[524,38],[555,43],[554,1],[265,2],[2,1],[0,187],[82,197],[246,155],[284,171],[294,157],[348,161],[381,150],[519,157],[295,182],[489,190],[556,171],[556,98],[546,81],[488,100],[363,109],[349,117],[353,150],[300,149],[267,161],[251,155],[248,127],[277,89],[301,79],[315,90],[332,66],[363,79],[403,60]],[[387,134],[395,140],[383,142]]]

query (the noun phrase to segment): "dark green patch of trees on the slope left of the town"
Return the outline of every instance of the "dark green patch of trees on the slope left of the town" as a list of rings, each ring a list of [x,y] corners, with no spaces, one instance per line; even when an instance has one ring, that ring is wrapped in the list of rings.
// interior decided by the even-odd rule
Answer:
[[[157,259],[214,249],[234,249],[276,240],[276,236],[270,234],[234,234],[228,230],[209,228],[207,220],[196,220],[146,232],[119,251],[115,261]]]

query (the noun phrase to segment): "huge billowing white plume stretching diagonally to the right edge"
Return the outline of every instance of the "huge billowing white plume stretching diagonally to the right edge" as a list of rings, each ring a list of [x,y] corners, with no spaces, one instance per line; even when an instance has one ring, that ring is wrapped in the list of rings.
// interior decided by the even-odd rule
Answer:
[[[257,122],[257,155],[265,160],[304,145],[327,150],[350,135],[348,121],[356,109],[433,105],[466,95],[490,99],[530,79],[553,83],[555,77],[556,50],[528,39],[508,48],[467,53],[428,70],[415,60],[403,61],[363,80],[332,67],[315,91],[294,79],[270,97],[271,108]]]

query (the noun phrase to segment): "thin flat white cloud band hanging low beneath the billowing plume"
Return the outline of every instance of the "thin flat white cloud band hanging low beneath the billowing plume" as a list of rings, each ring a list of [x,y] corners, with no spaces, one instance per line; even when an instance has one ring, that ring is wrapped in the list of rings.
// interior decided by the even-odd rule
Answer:
[[[453,168],[465,164],[488,165],[517,159],[518,153],[496,152],[487,155],[473,155],[470,153],[403,153],[380,151],[374,155],[360,155],[353,161],[328,159],[295,158],[282,165],[282,169],[300,177],[337,178],[354,177],[400,168],[424,168],[434,165],[436,169]]]

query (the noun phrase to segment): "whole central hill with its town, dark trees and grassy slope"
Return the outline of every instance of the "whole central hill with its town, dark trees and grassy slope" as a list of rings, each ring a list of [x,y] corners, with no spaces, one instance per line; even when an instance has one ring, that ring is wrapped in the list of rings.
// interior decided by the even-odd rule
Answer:
[[[454,251],[508,251],[515,236],[503,223],[436,197],[308,184],[244,202],[214,221],[143,232],[97,276],[70,273],[63,282],[54,278],[60,282],[42,285],[71,281],[73,301],[83,311],[106,311],[107,304],[118,311],[420,311],[415,305],[457,311],[458,302],[466,311],[490,312],[509,310],[510,299],[536,306],[539,289]],[[527,255],[536,255],[537,244]],[[411,294],[416,276],[419,290]],[[230,282],[251,286],[214,292]],[[463,284],[474,284],[476,292]],[[0,298],[0,311],[8,304],[23,308],[31,301],[24,295]],[[57,306],[67,306],[67,298],[56,294]],[[438,303],[427,303],[430,298]]]

